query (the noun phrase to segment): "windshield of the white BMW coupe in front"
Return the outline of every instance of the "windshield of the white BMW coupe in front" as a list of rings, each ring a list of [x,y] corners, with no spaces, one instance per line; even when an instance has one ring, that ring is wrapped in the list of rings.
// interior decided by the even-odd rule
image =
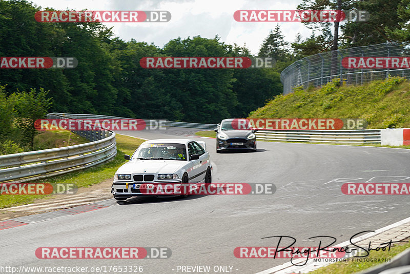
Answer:
[[[132,160],[187,161],[187,150],[183,144],[144,144],[138,147]]]

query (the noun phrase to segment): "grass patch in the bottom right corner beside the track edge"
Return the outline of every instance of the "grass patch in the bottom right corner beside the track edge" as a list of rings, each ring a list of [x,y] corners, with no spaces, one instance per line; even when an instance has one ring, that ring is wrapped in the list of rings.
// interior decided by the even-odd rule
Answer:
[[[407,248],[410,248],[410,243],[399,244],[393,246],[390,251],[375,251],[371,250],[370,254],[365,259],[393,259],[396,255],[403,252]],[[352,260],[346,262],[337,262],[328,266],[321,267],[309,274],[345,274],[345,273],[357,273],[372,266],[382,264],[383,262],[352,262]]]

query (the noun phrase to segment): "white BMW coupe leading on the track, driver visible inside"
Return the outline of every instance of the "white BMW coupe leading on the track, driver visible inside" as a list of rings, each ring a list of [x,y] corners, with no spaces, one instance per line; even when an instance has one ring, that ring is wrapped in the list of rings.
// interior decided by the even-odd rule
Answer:
[[[157,139],[142,143],[124,156],[128,163],[115,172],[111,193],[124,201],[146,195],[156,184],[211,184],[212,165],[206,144],[189,139]],[[187,197],[188,193],[180,194]]]

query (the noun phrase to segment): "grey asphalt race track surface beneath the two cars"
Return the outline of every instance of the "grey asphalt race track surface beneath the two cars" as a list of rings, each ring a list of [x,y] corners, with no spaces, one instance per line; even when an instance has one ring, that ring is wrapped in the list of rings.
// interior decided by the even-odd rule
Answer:
[[[175,138],[196,130],[168,128],[121,134]],[[410,150],[364,146],[258,142],[258,151],[216,154],[213,182],[274,183],[274,194],[132,198],[118,205],[0,231],[2,265],[142,265],[144,273],[182,273],[178,266],[233,266],[256,273],[289,259],[237,259],[237,246],[276,246],[291,236],[295,246],[317,246],[314,236],[348,241],[409,217],[407,195],[344,195],[343,182],[410,183]],[[344,178],[344,179],[341,179]],[[350,179],[347,179],[350,178]],[[169,247],[169,259],[37,259],[38,247]],[[229,269],[229,267],[228,267]],[[211,271],[211,273],[214,273]]]

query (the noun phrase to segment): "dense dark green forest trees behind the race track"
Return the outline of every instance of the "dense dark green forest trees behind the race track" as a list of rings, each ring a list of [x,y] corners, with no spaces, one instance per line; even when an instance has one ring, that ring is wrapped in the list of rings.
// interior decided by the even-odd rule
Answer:
[[[38,23],[42,9],[28,1],[0,0],[0,56],[74,56],[75,69],[2,69],[4,98],[31,89],[48,91],[50,111],[140,119],[216,123],[246,117],[281,94],[279,73],[299,58],[338,48],[410,40],[410,0],[303,0],[298,9],[362,9],[370,21],[300,23],[312,36],[284,41],[279,25],[257,56],[274,57],[272,69],[144,69],[146,56],[251,56],[245,46],[214,38],[176,37],[162,48],[115,37],[100,23]],[[44,7],[43,7],[44,9]],[[297,23],[293,23],[297,24]],[[2,96],[0,96],[2,97]]]

